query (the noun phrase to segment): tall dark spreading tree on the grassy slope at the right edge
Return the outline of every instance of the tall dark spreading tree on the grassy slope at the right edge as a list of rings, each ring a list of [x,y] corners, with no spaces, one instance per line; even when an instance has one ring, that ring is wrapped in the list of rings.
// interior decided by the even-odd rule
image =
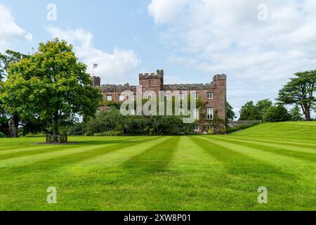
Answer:
[[[277,100],[286,105],[300,105],[305,120],[310,121],[310,113],[316,105],[316,70],[297,72],[287,85],[279,91]]]

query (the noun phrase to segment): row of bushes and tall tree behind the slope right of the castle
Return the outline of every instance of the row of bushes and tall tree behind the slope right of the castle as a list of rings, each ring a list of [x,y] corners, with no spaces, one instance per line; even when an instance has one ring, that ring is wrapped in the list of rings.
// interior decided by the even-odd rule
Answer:
[[[316,70],[298,72],[280,91],[273,104],[268,99],[249,101],[240,110],[239,120],[263,122],[311,121],[312,110],[316,111]],[[293,107],[287,110],[285,105]],[[303,112],[303,114],[301,113]]]

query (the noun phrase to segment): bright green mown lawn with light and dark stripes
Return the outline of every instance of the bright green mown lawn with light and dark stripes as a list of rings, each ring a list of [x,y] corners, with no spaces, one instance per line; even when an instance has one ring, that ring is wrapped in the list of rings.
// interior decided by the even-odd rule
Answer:
[[[316,210],[316,123],[228,136],[0,139],[0,210]],[[57,188],[57,204],[46,189]],[[268,204],[258,204],[258,188]]]

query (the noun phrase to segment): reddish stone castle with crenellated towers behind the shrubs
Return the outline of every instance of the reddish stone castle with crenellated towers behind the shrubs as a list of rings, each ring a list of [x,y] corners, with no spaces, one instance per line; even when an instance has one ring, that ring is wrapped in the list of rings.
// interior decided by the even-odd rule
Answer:
[[[129,96],[124,94],[129,91],[136,94],[137,86],[131,86],[129,84],[124,85],[101,85],[100,77],[92,77],[93,86],[100,87],[103,98],[105,101],[112,101],[114,103],[120,103],[126,101]],[[203,111],[195,113],[197,120],[201,121],[201,124],[195,128],[195,131],[208,130],[211,126],[211,120],[213,120],[214,112],[217,110],[218,116],[225,120],[226,110],[226,75],[215,75],[213,81],[209,84],[164,84],[164,70],[157,70],[157,74],[140,74],[139,85],[143,88],[143,93],[147,93],[150,98],[152,93],[159,96],[159,91],[165,91],[170,93],[173,91],[179,91],[181,98],[181,91],[187,91],[187,93],[196,92],[195,98],[199,99],[203,105]],[[169,100],[170,94],[166,94],[166,99]],[[105,107],[100,107],[100,110],[106,110]],[[204,115],[204,118],[201,118]]]

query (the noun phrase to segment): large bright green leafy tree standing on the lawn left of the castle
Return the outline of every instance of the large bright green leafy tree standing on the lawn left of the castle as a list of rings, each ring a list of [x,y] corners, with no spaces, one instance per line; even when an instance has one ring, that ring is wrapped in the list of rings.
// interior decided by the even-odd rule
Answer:
[[[93,115],[102,95],[91,86],[86,65],[78,62],[72,49],[66,41],[54,39],[40,43],[28,58],[11,63],[1,94],[4,108],[22,118],[37,118],[52,134],[79,115]]]

